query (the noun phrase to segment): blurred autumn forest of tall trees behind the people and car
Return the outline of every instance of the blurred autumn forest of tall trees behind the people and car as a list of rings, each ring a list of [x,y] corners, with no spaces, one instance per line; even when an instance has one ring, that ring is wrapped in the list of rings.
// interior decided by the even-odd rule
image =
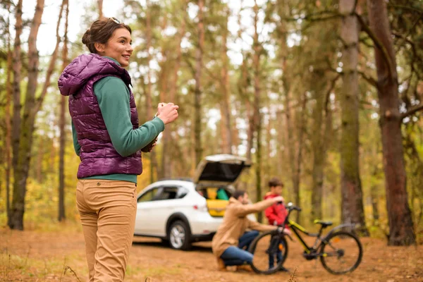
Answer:
[[[140,122],[159,102],[180,106],[143,156],[139,190],[237,154],[253,164],[239,187],[258,201],[278,176],[305,226],[355,222],[390,245],[423,243],[421,0],[1,0],[1,226],[78,221],[79,159],[56,85],[88,51],[83,32],[109,16],[133,29]],[[40,35],[47,22],[54,32]]]

